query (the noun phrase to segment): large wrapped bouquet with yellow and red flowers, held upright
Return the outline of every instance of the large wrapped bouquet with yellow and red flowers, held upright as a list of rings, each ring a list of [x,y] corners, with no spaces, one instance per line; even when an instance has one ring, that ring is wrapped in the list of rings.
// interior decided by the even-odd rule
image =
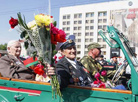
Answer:
[[[28,24],[26,24],[25,17],[22,18],[21,13],[18,13],[17,16],[18,19],[11,18],[9,23],[12,29],[18,25],[20,36],[25,40],[25,48],[28,48],[28,45],[34,46],[37,52],[33,53],[33,57],[35,58],[38,55],[42,65],[45,65],[45,63],[52,65],[55,44],[66,41],[65,32],[56,28],[56,22],[50,15],[35,15],[35,20]],[[51,76],[51,85],[55,95],[61,96],[56,75]]]

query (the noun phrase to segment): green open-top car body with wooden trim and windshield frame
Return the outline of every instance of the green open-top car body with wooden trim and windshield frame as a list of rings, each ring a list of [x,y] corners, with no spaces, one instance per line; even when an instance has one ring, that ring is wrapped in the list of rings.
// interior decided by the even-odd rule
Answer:
[[[122,49],[131,67],[131,90],[90,88],[69,85],[60,97],[52,97],[50,83],[18,80],[0,77],[0,102],[138,102],[138,73],[136,65],[126,52],[116,29],[108,27],[108,33],[116,44],[113,45],[100,31],[99,34],[109,46]],[[133,56],[132,56],[133,57]]]

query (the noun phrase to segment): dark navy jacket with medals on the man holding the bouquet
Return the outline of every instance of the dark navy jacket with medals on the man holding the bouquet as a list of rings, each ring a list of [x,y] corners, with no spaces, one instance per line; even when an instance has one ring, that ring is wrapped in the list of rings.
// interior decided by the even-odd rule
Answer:
[[[92,82],[90,77],[83,69],[83,65],[80,62],[77,62],[76,68],[64,57],[56,64],[56,72],[58,75],[60,87],[67,87],[69,84],[74,84],[73,79],[78,78],[79,82],[77,83],[80,86],[89,86]]]

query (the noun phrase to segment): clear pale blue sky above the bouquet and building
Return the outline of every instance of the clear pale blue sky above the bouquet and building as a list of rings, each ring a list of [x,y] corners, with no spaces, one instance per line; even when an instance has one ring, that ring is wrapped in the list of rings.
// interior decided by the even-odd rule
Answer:
[[[59,8],[65,6],[75,6],[89,3],[109,2],[116,0],[50,0],[51,15],[59,25]],[[9,31],[10,17],[17,18],[17,13],[21,12],[26,18],[26,22],[34,19],[34,14],[49,14],[49,0],[0,0],[0,44],[10,40],[20,39],[20,34],[13,29]]]

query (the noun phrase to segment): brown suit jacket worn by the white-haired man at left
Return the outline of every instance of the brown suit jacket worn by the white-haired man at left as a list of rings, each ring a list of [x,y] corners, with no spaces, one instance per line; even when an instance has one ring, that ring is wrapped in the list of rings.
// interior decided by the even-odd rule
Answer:
[[[35,73],[26,68],[22,62],[12,55],[0,58],[0,73],[3,77],[34,80]]]

